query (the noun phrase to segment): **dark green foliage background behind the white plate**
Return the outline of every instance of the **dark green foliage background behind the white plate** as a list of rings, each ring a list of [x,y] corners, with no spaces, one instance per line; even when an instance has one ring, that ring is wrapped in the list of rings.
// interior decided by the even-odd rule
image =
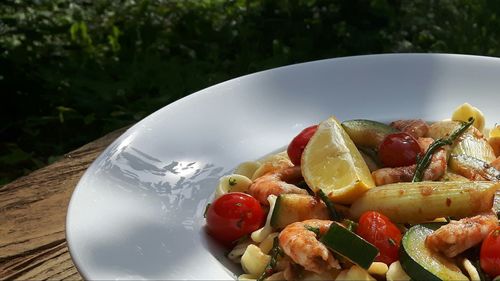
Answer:
[[[194,91],[387,52],[498,56],[497,0],[3,0],[0,185]]]

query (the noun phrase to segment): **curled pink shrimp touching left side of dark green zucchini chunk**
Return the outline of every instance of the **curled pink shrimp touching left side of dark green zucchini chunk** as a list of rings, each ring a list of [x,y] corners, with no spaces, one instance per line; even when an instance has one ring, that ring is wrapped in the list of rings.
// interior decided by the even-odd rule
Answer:
[[[329,220],[310,219],[295,222],[283,229],[279,235],[280,247],[295,263],[306,270],[318,274],[332,268],[340,268],[333,254],[318,241],[316,230],[324,234],[330,225]]]

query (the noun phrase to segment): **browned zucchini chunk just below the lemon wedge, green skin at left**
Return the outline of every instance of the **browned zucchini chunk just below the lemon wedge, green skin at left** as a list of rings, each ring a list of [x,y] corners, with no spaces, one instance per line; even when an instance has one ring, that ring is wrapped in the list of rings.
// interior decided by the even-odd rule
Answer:
[[[271,215],[273,228],[282,229],[291,223],[307,219],[329,219],[325,203],[311,195],[281,194],[278,196]]]

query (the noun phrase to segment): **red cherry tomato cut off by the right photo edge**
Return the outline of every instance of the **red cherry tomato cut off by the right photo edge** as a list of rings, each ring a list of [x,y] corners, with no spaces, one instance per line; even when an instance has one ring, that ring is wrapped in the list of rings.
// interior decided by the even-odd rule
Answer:
[[[479,261],[486,274],[492,278],[500,275],[500,226],[483,240]]]

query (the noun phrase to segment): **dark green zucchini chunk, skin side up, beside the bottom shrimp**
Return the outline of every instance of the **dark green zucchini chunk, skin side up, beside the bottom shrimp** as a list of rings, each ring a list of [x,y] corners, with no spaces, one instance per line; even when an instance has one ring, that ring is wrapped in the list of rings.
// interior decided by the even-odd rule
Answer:
[[[375,246],[337,222],[330,225],[320,241],[330,250],[364,269],[368,269],[378,255]]]

